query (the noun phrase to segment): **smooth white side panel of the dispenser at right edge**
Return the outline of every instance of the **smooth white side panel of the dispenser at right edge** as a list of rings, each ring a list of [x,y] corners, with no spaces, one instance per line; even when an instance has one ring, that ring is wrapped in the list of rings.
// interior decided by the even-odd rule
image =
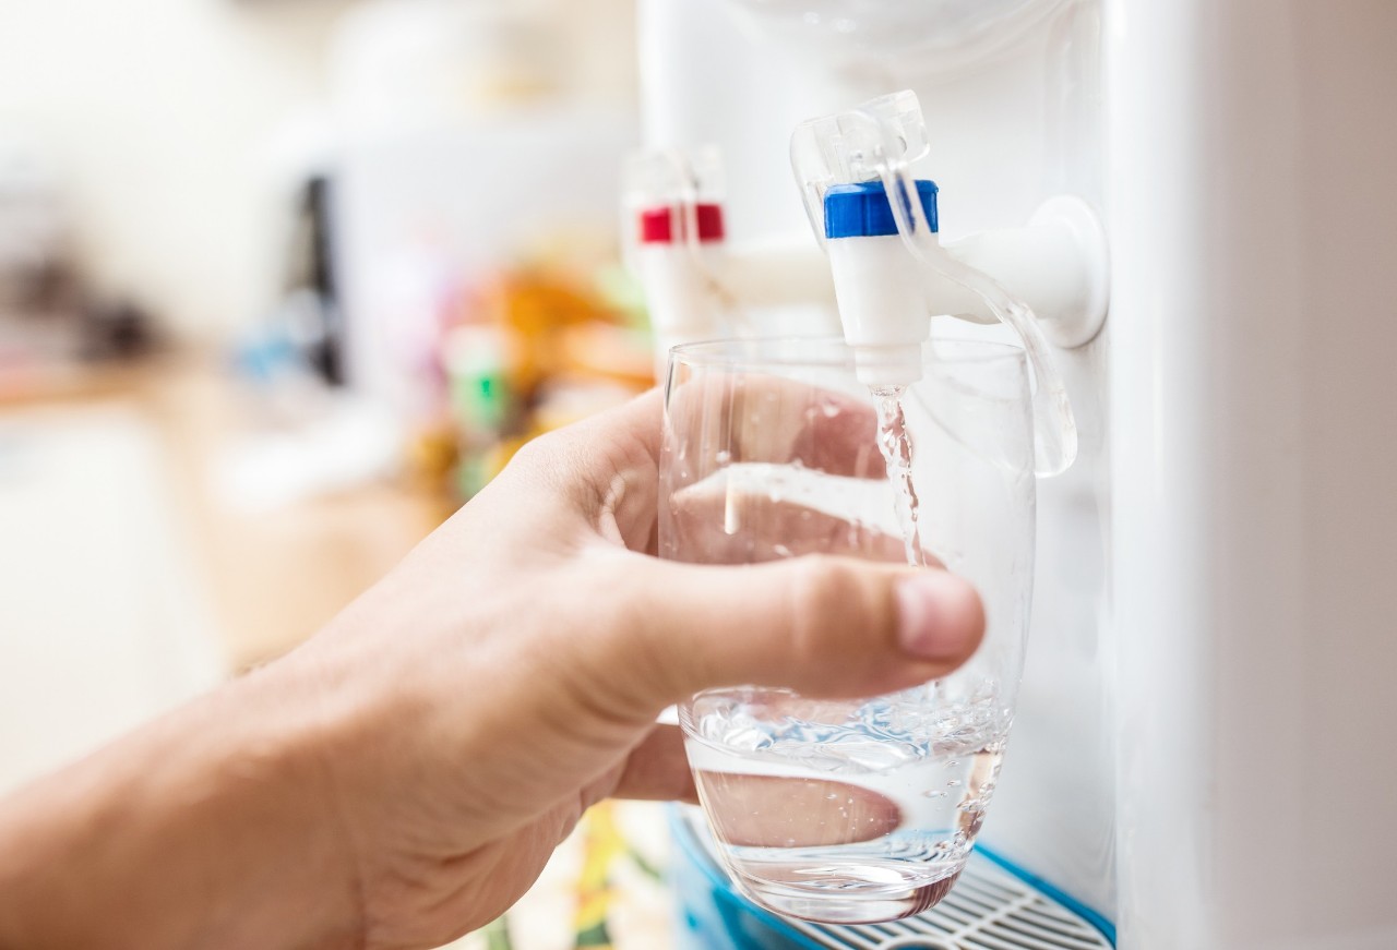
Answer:
[[[1120,946],[1397,946],[1397,6],[1109,0]]]

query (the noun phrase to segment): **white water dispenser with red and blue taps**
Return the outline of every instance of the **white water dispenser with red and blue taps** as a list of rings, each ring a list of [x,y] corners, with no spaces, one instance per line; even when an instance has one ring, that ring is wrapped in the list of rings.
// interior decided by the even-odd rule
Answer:
[[[925,919],[817,928],[750,916],[680,820],[698,946],[1397,946],[1397,7],[640,13],[662,173],[633,175],[633,210],[687,222],[650,267],[698,267],[711,295],[676,337],[840,332],[861,306],[890,319],[876,288],[901,306],[915,285],[904,337],[865,342],[914,345],[923,314],[1017,338],[1039,394],[1062,394],[1039,437],[1067,439],[1041,444],[1028,661],[983,856]],[[893,228],[826,257],[849,232],[810,221],[859,189]],[[1044,425],[1066,404],[1076,453]]]

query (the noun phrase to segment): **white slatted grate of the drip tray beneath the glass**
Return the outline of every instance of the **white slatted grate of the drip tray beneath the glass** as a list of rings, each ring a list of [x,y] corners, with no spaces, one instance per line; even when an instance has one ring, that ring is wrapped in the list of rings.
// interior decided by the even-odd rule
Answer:
[[[849,926],[788,922],[830,950],[1111,950],[1090,922],[978,854],[925,914]]]

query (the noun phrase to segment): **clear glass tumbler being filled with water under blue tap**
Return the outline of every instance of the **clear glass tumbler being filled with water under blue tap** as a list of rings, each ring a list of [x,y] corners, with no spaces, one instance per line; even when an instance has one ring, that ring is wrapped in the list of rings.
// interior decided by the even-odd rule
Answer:
[[[757,904],[809,921],[890,921],[950,890],[995,791],[1023,666],[1035,497],[1023,351],[926,345],[922,379],[900,394],[909,471],[880,448],[897,434],[887,400],[824,339],[679,346],[665,387],[662,557],[925,559],[985,604],[975,657],[925,686],[837,701],[736,686],[680,706],[719,858]]]

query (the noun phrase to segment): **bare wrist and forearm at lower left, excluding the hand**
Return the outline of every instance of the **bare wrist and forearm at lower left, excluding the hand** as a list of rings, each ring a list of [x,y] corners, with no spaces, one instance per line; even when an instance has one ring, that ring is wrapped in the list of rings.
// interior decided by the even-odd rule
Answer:
[[[0,946],[328,946],[352,855],[295,671],[231,683],[0,803]]]

